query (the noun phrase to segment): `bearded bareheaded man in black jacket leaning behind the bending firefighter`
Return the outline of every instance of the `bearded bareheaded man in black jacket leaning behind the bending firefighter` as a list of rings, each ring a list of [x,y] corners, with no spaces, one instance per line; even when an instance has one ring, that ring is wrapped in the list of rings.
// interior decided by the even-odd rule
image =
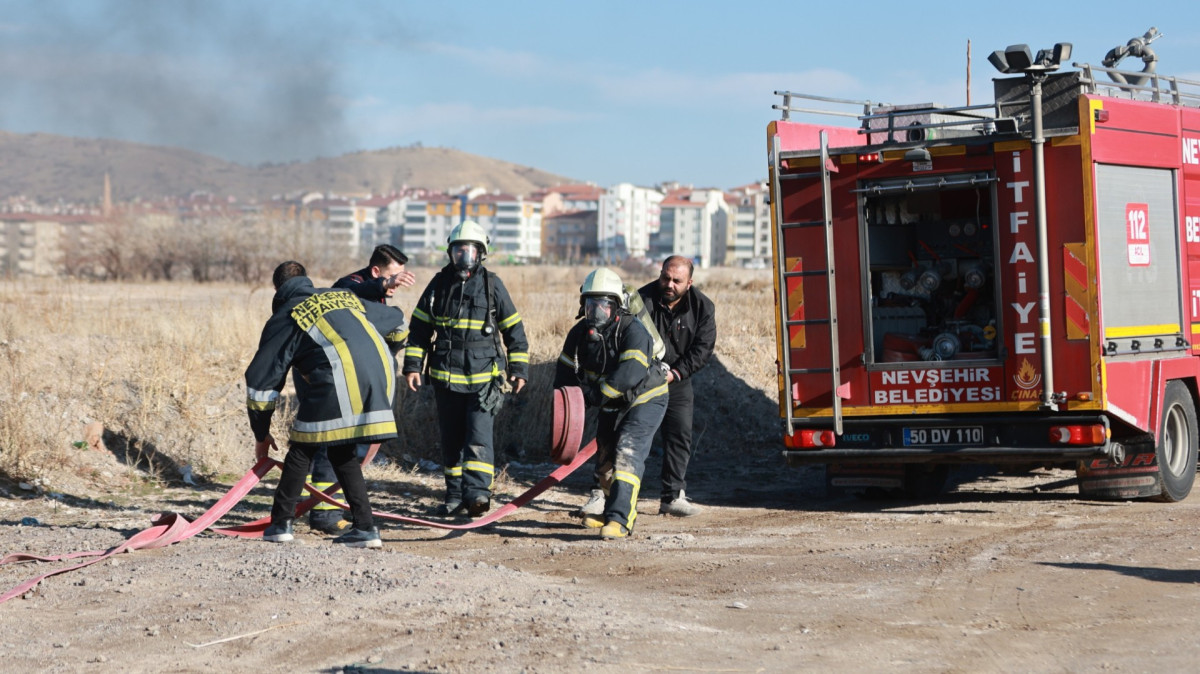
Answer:
[[[716,344],[716,309],[713,301],[692,288],[691,260],[672,255],[662,261],[659,279],[638,288],[654,317],[654,326],[667,353],[671,398],[662,419],[662,503],[660,514],[690,517],[700,506],[688,500],[684,488],[688,463],[695,452],[691,441],[694,395],[691,377],[713,356]]]

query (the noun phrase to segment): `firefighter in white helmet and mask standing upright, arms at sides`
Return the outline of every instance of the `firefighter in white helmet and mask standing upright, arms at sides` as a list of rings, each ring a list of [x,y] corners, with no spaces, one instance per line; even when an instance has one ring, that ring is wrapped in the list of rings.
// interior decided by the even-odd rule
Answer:
[[[529,378],[529,343],[504,283],[482,266],[488,246],[484,228],[463,221],[448,242],[450,264],[413,309],[404,378],[413,391],[422,371],[433,384],[446,483],[438,513],[479,517],[492,505],[492,422],[504,401],[505,377],[520,393]]]

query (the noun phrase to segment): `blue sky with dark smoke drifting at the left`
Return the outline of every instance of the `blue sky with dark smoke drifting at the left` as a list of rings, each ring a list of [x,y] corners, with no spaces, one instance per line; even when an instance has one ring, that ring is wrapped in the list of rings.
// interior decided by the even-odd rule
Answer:
[[[1006,6],[1008,11],[988,10]],[[0,0],[0,130],[247,164],[454,148],[599,185],[766,177],[773,91],[990,101],[986,56],[1157,26],[1200,80],[1200,1]],[[1140,70],[1127,60],[1123,68]]]

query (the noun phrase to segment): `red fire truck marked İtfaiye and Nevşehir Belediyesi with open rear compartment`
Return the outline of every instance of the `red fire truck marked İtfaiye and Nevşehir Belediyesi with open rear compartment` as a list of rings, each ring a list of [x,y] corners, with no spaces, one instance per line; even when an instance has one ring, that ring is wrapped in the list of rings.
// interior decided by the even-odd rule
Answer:
[[[1187,498],[1200,83],[1110,60],[1067,68],[1069,52],[995,53],[1012,74],[986,104],[776,92],[788,464],[910,495],[940,491],[956,463],[1073,467],[1094,498]],[[857,126],[791,119],[841,104]]]

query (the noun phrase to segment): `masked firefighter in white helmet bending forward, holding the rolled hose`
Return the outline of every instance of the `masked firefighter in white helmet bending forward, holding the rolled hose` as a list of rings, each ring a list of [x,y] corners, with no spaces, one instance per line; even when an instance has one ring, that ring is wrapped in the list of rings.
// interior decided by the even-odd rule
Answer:
[[[667,409],[666,373],[616,272],[589,273],[580,305],[582,320],[566,333],[554,386],[577,385],[588,407],[600,408],[596,471],[606,498],[604,514],[584,514],[583,525],[600,529],[601,538],[624,538],[637,520],[646,457]]]

